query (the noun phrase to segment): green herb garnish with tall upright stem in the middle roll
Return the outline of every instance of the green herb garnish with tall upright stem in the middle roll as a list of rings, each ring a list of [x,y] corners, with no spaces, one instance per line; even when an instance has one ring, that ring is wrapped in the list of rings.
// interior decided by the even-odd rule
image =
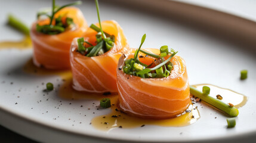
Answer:
[[[78,39],[78,52],[87,57],[95,57],[97,55],[102,55],[105,52],[109,51],[115,45],[115,36],[104,32],[101,27],[100,8],[98,6],[97,0],[95,0],[95,4],[97,8],[98,23],[100,27],[95,26],[95,24],[91,24],[90,28],[98,32],[97,35],[95,35],[97,45],[93,46],[91,43],[84,41],[84,38]],[[85,47],[85,43],[87,43],[90,46]]]

